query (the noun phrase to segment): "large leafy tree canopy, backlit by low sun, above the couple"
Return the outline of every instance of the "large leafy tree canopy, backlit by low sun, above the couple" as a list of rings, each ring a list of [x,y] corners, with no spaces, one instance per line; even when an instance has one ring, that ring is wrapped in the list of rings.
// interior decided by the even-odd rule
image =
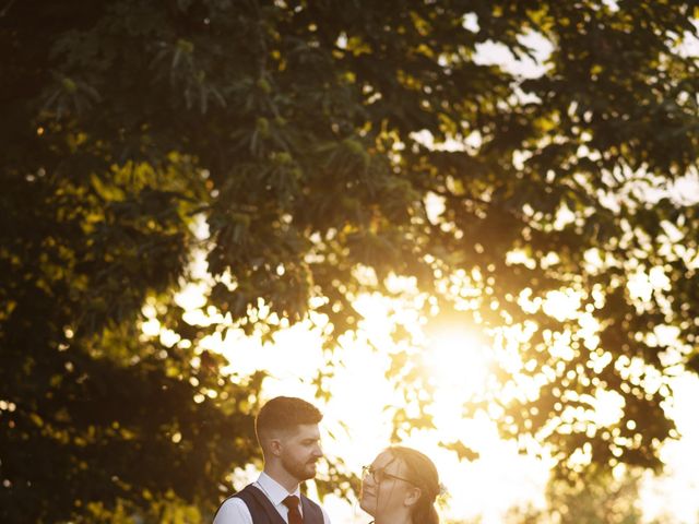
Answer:
[[[312,310],[332,347],[394,274],[460,322],[524,326],[502,382],[541,386],[493,400],[502,431],[569,473],[576,452],[657,466],[675,434],[659,330],[699,368],[698,216],[643,190],[694,172],[699,75],[677,50],[692,16],[689,1],[5,3],[2,516],[168,490],[211,507],[254,456],[260,377],[221,376],[174,298],[196,249],[210,305],[250,333]],[[487,41],[525,57],[531,32],[553,45],[540,78],[474,59]],[[549,314],[552,291],[578,312]],[[144,305],[179,342],[140,338]],[[601,392],[621,400],[606,426]]]

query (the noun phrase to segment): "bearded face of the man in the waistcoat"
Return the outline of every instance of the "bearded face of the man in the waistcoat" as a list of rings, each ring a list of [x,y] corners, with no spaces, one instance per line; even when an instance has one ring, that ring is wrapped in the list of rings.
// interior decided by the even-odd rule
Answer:
[[[301,424],[280,438],[282,465],[298,481],[316,476],[316,462],[323,456],[317,424]]]

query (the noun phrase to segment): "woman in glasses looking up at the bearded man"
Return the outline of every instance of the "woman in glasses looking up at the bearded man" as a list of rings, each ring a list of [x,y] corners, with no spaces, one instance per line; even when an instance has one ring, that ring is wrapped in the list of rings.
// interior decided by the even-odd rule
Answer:
[[[439,524],[439,475],[419,451],[395,445],[364,467],[359,505],[375,524]]]

